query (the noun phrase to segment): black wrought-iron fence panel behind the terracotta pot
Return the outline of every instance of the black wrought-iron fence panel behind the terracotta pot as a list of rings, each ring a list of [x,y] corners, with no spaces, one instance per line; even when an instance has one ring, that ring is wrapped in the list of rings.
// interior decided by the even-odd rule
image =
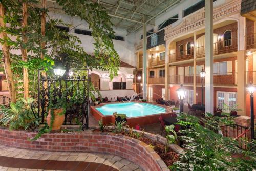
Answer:
[[[89,126],[89,69],[77,70],[78,75],[57,77],[53,74],[42,74],[38,71],[38,117],[45,122],[48,113],[49,98],[56,103],[57,98],[66,100],[68,108],[64,124],[82,124]],[[75,72],[74,72],[75,74]]]

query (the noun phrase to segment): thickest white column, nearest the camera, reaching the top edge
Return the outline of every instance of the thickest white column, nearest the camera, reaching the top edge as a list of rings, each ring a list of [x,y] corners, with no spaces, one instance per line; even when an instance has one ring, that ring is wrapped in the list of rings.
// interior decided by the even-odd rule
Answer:
[[[205,0],[205,112],[214,111],[213,85],[213,2]]]

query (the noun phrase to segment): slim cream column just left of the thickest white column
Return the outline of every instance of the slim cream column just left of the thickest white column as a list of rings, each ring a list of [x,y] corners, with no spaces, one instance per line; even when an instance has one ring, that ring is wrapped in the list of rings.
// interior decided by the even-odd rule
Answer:
[[[196,49],[196,42],[197,42],[197,32],[194,32],[194,58],[193,58],[193,103],[197,104],[197,49]],[[203,102],[202,102],[203,103]]]

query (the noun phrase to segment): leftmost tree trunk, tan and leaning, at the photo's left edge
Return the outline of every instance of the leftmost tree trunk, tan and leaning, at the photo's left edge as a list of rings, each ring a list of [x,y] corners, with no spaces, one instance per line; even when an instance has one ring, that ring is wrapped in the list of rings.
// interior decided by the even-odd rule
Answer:
[[[0,3],[0,26],[1,27],[6,27],[4,20],[3,20],[4,16],[5,16],[4,6],[2,3]],[[4,31],[0,32],[0,38],[6,39],[7,34]],[[16,93],[15,93],[14,81],[13,81],[13,77],[12,77],[13,73],[12,73],[12,69],[11,69],[10,47],[5,42],[4,44],[2,44],[2,49],[3,49],[3,53],[4,53],[5,75],[6,75],[6,79],[8,82],[11,102],[15,103],[16,102]]]

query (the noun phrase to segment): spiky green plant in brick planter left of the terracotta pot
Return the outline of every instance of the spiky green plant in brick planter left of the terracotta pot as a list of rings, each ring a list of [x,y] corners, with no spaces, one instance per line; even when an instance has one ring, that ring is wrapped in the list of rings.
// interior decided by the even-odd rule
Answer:
[[[37,127],[39,125],[39,118],[31,110],[33,102],[33,98],[28,98],[27,100],[22,98],[16,103],[10,103],[10,108],[2,106],[0,123],[4,126],[8,125],[10,130],[27,130]]]

